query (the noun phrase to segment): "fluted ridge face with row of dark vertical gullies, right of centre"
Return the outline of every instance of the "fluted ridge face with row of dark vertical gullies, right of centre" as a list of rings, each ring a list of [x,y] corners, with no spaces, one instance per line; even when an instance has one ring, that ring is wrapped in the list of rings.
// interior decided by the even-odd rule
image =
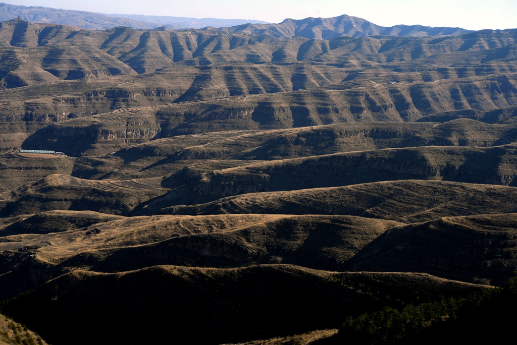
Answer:
[[[424,120],[428,116],[428,121],[472,117],[494,122],[494,116],[489,114],[495,109],[517,106],[515,75],[501,78],[489,76],[475,81],[444,80],[397,85],[345,83],[342,87],[351,89],[333,90],[329,87],[270,93],[225,101],[224,106],[219,101],[208,101],[211,107],[191,107],[190,115],[185,117],[188,123],[174,122],[175,128],[170,128],[168,133],[202,133],[228,128],[299,128],[343,122],[406,122]],[[495,92],[494,88],[501,91]],[[455,99],[456,91],[461,95],[460,99]],[[173,107],[169,111],[172,117],[184,114],[181,107]]]

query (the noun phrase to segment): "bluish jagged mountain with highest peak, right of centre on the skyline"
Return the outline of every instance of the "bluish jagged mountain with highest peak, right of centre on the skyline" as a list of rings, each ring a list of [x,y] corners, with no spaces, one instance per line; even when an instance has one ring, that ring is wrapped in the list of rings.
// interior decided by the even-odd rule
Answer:
[[[305,37],[310,39],[332,39],[342,36],[360,38],[376,35],[401,37],[451,36],[473,32],[460,27],[431,27],[422,25],[385,27],[346,14],[333,18],[309,17],[300,20],[288,18],[279,24],[243,24],[209,29],[229,33],[245,33],[248,35],[269,35],[284,38]]]

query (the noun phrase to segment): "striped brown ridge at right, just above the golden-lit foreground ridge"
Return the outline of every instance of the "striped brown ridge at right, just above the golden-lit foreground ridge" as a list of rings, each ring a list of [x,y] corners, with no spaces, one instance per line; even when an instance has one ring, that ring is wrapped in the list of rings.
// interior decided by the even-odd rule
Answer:
[[[412,223],[443,216],[513,213],[514,187],[448,181],[388,181],[226,197],[164,208],[174,214],[349,214]],[[144,209],[145,210],[145,209]]]

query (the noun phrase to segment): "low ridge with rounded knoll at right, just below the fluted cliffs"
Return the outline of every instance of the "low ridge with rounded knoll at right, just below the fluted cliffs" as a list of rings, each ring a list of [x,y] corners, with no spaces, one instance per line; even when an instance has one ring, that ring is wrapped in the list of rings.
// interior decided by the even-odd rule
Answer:
[[[411,146],[493,146],[515,142],[516,133],[510,124],[484,124],[467,119],[445,124],[338,123],[283,130],[178,135],[120,149],[114,155],[126,163],[151,157],[166,157],[168,163],[209,159],[281,160]]]

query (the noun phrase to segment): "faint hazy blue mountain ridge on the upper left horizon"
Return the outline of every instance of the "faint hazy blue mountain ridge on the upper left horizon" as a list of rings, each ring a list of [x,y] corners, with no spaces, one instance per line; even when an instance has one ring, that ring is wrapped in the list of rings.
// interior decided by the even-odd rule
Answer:
[[[197,19],[140,14],[105,14],[0,3],[0,21],[7,21],[18,17],[32,23],[72,25],[88,30],[104,30],[117,26],[128,26],[134,29],[153,29],[159,26],[166,26],[173,29],[187,29],[206,26],[234,26],[245,23],[267,23],[264,21],[246,19]]]

